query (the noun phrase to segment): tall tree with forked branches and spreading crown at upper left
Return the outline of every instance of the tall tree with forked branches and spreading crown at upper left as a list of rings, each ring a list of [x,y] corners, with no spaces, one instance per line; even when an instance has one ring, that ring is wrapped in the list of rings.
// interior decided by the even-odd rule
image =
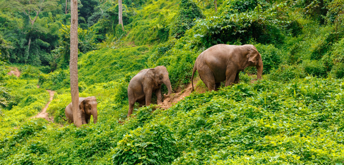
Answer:
[[[17,9],[27,15],[30,21],[31,28],[35,23],[38,15],[43,11],[55,10],[58,0],[13,0],[6,1],[6,7],[10,9]],[[30,51],[31,35],[29,34],[28,51]]]

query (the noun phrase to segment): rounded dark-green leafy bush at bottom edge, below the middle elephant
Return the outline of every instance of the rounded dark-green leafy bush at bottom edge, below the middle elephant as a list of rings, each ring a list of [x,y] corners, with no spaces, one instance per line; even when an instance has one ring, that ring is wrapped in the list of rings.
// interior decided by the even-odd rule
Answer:
[[[114,164],[165,164],[174,159],[175,135],[163,120],[139,127],[123,136],[113,150]]]

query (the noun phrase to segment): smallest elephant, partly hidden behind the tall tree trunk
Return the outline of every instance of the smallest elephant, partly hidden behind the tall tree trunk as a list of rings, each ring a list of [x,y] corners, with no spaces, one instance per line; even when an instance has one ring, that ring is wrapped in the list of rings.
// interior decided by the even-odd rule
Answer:
[[[97,122],[98,119],[98,111],[97,111],[97,99],[94,96],[90,97],[79,97],[79,109],[80,109],[80,115],[81,115],[81,121],[82,124],[88,124],[89,120],[91,118],[91,115],[93,116],[93,123]],[[64,119],[61,115],[60,117],[67,121],[69,123],[72,123],[73,120],[73,107],[72,102],[67,105],[65,108],[65,113],[67,119]]]

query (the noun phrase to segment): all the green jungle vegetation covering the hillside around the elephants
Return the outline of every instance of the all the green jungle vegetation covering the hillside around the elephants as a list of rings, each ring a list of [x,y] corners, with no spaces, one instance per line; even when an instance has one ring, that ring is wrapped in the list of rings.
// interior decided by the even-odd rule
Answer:
[[[0,0],[0,164],[344,163],[343,0],[123,0],[124,31],[118,1],[79,0],[79,92],[98,101],[98,122],[81,128],[59,117],[71,102],[69,1],[39,13],[30,2]],[[255,45],[263,78],[248,67],[239,84],[126,117],[141,69],[164,65],[183,91],[196,57],[221,43]],[[31,118],[46,89],[54,122]]]

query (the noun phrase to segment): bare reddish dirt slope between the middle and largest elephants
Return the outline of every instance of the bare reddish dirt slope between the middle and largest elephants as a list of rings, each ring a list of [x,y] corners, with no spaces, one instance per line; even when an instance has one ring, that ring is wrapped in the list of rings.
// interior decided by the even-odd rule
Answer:
[[[195,91],[198,93],[206,92],[207,89],[196,89],[196,84],[197,84],[198,80],[200,80],[200,77],[196,77],[193,80]],[[178,93],[171,94],[171,96],[168,98],[165,98],[164,101],[160,104],[160,107],[164,108],[164,109],[168,109],[168,108],[172,107],[173,104],[177,103],[180,100],[183,100],[184,97],[189,96],[191,94],[191,92],[192,92],[192,84],[190,83],[189,85],[187,85],[187,87],[185,89],[181,90]]]

